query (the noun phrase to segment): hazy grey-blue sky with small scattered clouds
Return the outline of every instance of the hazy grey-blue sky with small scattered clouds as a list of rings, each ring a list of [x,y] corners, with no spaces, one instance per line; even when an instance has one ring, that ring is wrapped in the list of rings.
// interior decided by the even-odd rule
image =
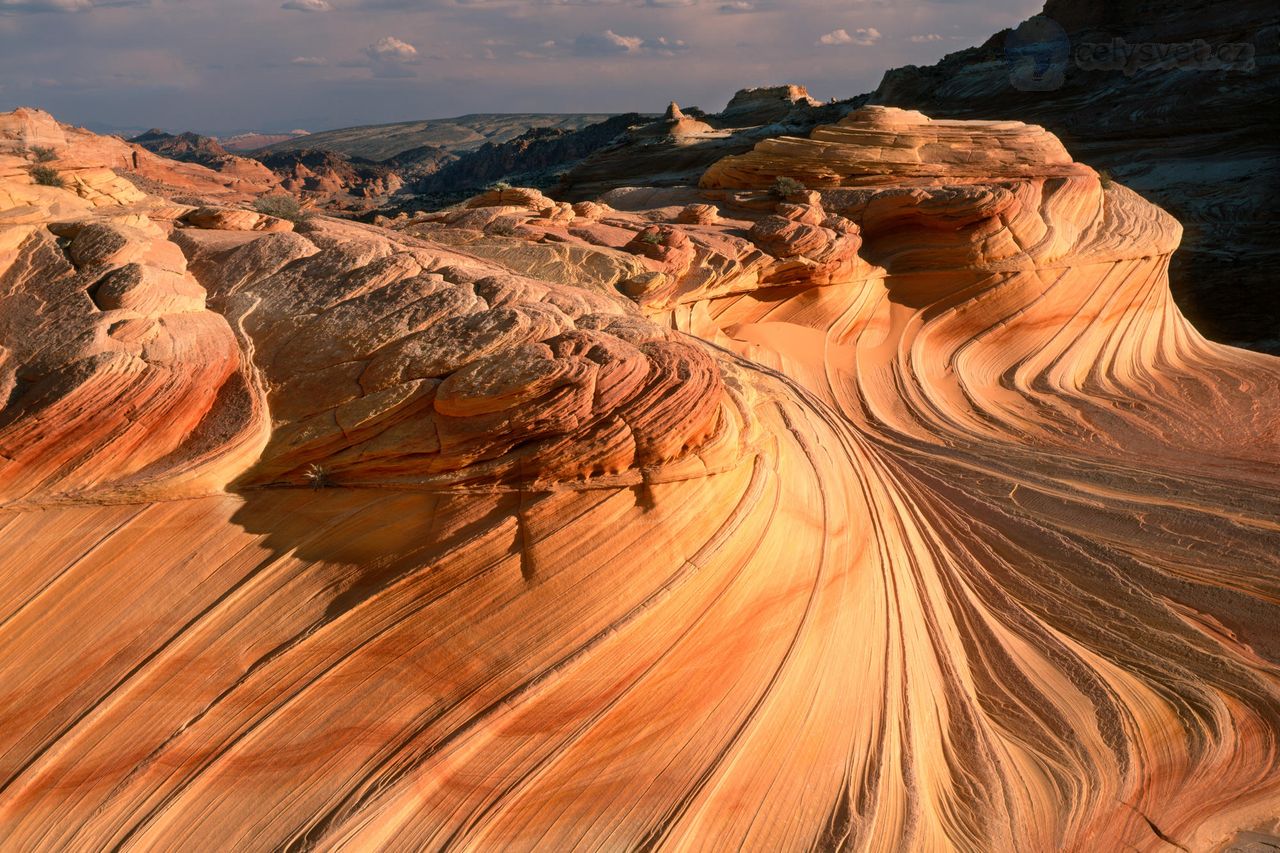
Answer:
[[[463,113],[723,108],[869,91],[1038,0],[0,0],[0,109],[76,124],[323,129]]]

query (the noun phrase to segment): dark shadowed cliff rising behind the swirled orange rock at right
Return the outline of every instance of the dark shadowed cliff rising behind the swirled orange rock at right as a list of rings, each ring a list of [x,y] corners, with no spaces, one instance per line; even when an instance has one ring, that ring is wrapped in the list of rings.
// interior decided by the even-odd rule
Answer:
[[[1042,124],[1183,223],[1171,282],[1202,332],[1280,352],[1274,5],[1051,0],[1043,17],[937,65],[891,70],[870,100]],[[1044,76],[1019,83],[1010,45]],[[1156,49],[1164,64],[1132,53]]]

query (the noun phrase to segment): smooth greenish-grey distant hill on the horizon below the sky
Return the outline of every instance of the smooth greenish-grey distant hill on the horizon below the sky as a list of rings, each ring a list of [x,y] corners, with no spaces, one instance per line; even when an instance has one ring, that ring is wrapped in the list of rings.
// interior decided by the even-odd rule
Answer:
[[[485,142],[506,142],[531,127],[577,131],[609,117],[608,113],[476,113],[457,118],[320,131],[305,137],[274,142],[261,150],[317,149],[367,160],[387,160],[425,145],[448,151],[468,151]]]

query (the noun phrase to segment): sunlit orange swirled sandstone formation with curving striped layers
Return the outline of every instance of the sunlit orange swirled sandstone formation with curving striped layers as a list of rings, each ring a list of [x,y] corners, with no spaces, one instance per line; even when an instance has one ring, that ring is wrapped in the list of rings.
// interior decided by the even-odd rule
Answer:
[[[5,175],[15,849],[1210,850],[1280,809],[1280,361],[1036,127],[868,108],[396,231]]]

